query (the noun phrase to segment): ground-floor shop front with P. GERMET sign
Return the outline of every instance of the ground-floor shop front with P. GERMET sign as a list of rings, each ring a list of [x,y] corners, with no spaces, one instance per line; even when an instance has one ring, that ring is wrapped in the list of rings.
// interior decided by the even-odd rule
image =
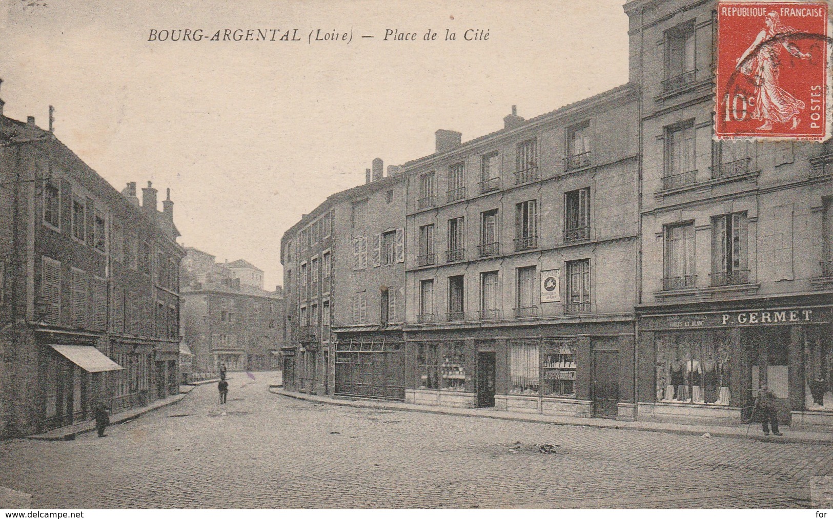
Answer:
[[[781,423],[833,427],[831,307],[766,303],[641,315],[639,419],[748,422],[766,384]]]

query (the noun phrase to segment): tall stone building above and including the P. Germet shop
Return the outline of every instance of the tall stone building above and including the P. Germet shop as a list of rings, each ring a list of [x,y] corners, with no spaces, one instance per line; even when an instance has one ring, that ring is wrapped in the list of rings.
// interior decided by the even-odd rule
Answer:
[[[714,141],[716,2],[625,11],[641,84],[638,418],[738,423],[766,382],[781,422],[829,429],[833,147]]]

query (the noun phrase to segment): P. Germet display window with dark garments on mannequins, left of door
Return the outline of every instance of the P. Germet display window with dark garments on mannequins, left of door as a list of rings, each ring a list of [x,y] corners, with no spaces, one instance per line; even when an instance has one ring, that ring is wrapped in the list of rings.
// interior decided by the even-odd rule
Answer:
[[[729,332],[656,335],[656,400],[728,406]]]

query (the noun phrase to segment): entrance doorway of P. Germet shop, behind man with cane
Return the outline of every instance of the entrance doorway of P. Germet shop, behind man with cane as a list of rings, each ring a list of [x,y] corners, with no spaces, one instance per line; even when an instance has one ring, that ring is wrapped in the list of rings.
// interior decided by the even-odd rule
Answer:
[[[751,364],[749,406],[755,402],[758,388],[766,383],[767,389],[776,396],[778,423],[789,424],[792,419],[790,408],[790,327],[779,326],[749,330],[746,344],[750,348]],[[760,422],[761,417],[752,417]]]

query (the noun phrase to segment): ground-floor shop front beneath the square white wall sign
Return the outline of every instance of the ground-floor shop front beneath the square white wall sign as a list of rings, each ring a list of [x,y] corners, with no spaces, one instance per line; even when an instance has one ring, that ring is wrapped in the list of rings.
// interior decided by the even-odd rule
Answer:
[[[409,332],[407,351],[406,402],[633,419],[632,321]]]

